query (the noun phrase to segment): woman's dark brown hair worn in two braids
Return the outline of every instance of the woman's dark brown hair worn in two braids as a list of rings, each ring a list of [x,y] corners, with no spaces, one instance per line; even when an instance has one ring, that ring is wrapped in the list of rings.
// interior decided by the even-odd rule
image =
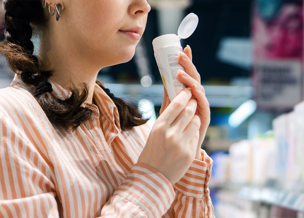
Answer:
[[[5,40],[0,42],[0,52],[5,54],[9,67],[19,75],[23,82],[37,86],[55,72],[49,69],[46,63],[33,55],[34,45],[30,40],[33,35],[33,27],[42,30],[48,24],[50,15],[48,9],[43,9],[41,0],[3,0],[2,8],[5,9]],[[101,81],[96,83],[107,93],[118,108],[120,128],[123,131],[132,129],[146,123],[149,119],[143,119],[142,114],[135,107],[128,105],[123,99],[114,97],[109,89],[106,89]],[[74,86],[69,88],[71,96],[67,99],[59,99],[51,92],[37,92],[37,102],[53,124],[63,125],[65,128],[75,130],[82,122],[88,120],[92,109],[81,107],[88,97],[88,85],[80,84],[81,92]]]

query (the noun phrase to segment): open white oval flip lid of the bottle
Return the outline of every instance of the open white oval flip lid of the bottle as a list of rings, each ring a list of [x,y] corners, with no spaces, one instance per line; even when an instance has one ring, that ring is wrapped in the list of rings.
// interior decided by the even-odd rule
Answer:
[[[199,17],[195,13],[188,14],[178,27],[179,39],[186,39],[195,31],[197,24],[199,23]]]

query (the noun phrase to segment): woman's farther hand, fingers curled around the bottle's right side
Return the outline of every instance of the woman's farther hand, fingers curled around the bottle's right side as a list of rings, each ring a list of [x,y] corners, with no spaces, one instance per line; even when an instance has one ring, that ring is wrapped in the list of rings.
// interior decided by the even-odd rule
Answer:
[[[192,63],[192,53],[189,45],[184,48],[184,52],[178,55],[178,62],[184,67],[185,72],[178,72],[178,79],[192,89],[192,94],[197,100],[198,108],[195,115],[201,120],[199,128],[199,141],[195,159],[202,159],[201,145],[206,135],[207,127],[210,124],[210,107],[205,95],[204,87],[201,85],[201,76]]]

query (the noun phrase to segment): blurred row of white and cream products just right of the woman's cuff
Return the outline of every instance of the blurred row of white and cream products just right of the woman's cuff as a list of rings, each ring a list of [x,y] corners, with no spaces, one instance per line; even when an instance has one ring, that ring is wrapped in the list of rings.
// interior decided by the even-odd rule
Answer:
[[[212,169],[212,181],[255,185],[273,181],[276,178],[275,147],[272,136],[233,143],[229,154],[212,155],[213,161],[217,162]]]

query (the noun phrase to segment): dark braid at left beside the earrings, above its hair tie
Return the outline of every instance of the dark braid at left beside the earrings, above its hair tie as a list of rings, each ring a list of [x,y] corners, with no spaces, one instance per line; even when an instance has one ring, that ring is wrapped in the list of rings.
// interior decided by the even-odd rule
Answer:
[[[32,38],[32,27],[30,26],[31,13],[28,12],[28,7],[33,6],[33,1],[4,1],[4,9],[6,10],[4,20],[6,29],[4,30],[5,39],[7,42],[20,47],[19,54],[15,56],[14,61],[10,61],[11,67],[19,72],[22,80],[31,85],[37,85],[40,82],[47,82],[49,75],[39,72],[39,61],[37,56],[33,55],[34,45],[30,40]],[[37,2],[39,3],[39,2]],[[43,18],[43,10],[36,10],[34,17]],[[18,53],[17,53],[18,54]],[[24,62],[24,58],[27,62]],[[13,64],[13,66],[12,66]]]

